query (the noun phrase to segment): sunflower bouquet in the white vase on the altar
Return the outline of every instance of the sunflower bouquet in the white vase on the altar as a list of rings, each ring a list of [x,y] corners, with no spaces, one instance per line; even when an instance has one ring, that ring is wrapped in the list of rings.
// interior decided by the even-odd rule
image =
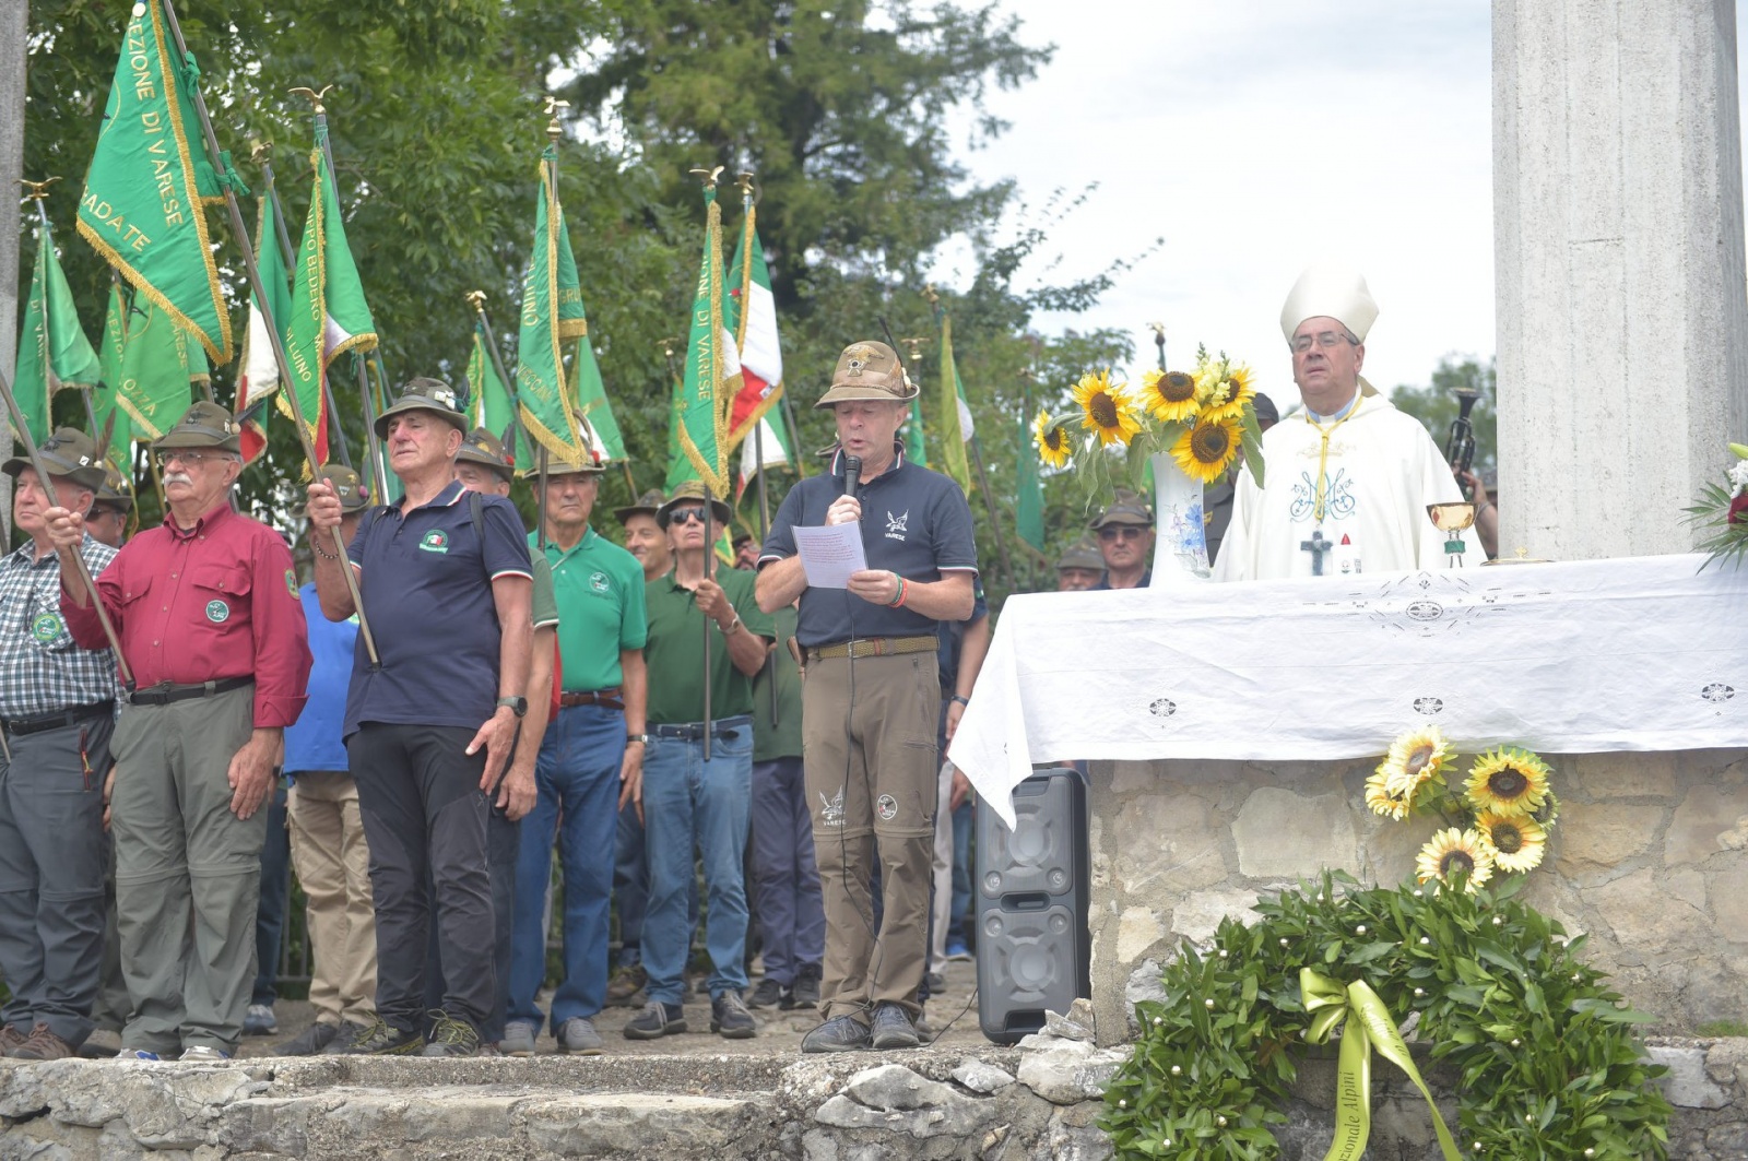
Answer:
[[[1089,502],[1117,483],[1143,491],[1147,463],[1161,453],[1203,484],[1225,476],[1243,456],[1260,484],[1255,399],[1250,367],[1225,351],[1213,357],[1197,348],[1194,371],[1148,371],[1136,388],[1112,383],[1108,369],[1089,371],[1073,388],[1077,409],[1056,416],[1040,411],[1031,432],[1044,463],[1072,465]]]

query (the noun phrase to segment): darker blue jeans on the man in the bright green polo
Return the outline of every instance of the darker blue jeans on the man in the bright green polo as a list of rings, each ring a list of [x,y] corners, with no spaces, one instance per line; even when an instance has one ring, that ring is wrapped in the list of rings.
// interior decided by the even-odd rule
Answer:
[[[552,1028],[593,1018],[607,1002],[607,914],[619,827],[619,766],[626,715],[598,705],[559,710],[535,762],[540,794],[523,818],[516,857],[516,928],[509,1019],[540,1026],[535,997],[545,983],[545,900],[552,839],[565,874],[565,977],[552,993]]]

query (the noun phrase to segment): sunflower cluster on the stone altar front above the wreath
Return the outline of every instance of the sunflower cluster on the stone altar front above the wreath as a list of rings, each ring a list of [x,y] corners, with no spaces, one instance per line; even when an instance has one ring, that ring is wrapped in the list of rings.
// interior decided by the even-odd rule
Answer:
[[[1453,785],[1453,759],[1439,727],[1425,726],[1397,738],[1365,780],[1372,813],[1398,822],[1437,815],[1446,824],[1416,857],[1416,878],[1451,885],[1461,872],[1472,892],[1495,872],[1521,874],[1540,866],[1559,815],[1547,762],[1530,750],[1498,747],[1477,755],[1468,776]]]

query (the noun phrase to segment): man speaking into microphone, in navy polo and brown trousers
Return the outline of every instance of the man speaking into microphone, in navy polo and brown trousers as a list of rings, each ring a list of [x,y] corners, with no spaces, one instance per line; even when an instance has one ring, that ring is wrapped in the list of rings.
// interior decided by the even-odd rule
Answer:
[[[825,899],[820,1016],[804,1053],[916,1047],[935,841],[937,631],[972,614],[972,511],[946,476],[907,463],[916,399],[884,343],[844,348],[816,407],[837,420],[829,476],[790,488],[759,556],[759,607],[801,598],[802,752]],[[867,568],[811,587],[795,528],[860,525]],[[869,881],[881,871],[883,920]]]

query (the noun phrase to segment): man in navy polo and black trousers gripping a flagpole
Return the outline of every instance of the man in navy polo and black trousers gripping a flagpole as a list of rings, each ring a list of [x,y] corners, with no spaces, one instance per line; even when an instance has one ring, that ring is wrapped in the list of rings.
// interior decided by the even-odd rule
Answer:
[[[531,565],[516,507],[454,477],[467,418],[447,383],[411,379],[376,434],[406,495],[365,514],[348,561],[329,547],[339,498],[309,484],[322,612],[357,612],[353,568],[379,659],[360,626],[343,729],[371,843],[378,1023],[351,1051],[474,1056],[496,991],[488,792],[528,712]],[[446,991],[427,1044],[430,893]]]

